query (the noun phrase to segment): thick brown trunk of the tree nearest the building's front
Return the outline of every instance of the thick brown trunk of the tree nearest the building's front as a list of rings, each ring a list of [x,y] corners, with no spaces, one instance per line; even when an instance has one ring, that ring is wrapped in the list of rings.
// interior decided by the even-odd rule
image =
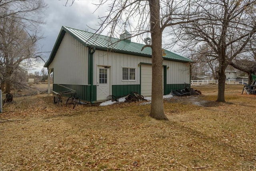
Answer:
[[[149,0],[150,31],[152,39],[152,99],[150,116],[155,119],[168,120],[164,114],[163,100],[163,58],[162,58],[162,31],[160,28],[160,2]]]

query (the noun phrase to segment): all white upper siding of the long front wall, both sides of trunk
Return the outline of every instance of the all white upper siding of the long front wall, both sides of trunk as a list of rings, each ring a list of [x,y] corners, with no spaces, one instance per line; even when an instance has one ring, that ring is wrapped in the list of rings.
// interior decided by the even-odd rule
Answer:
[[[140,65],[152,64],[151,58],[96,50],[94,53],[94,78],[97,78],[97,65],[110,66],[112,85],[140,84]],[[190,66],[188,63],[163,61],[168,68],[166,84],[184,84],[190,82]],[[136,70],[136,81],[122,81],[122,67]],[[96,85],[96,79],[94,79]]]

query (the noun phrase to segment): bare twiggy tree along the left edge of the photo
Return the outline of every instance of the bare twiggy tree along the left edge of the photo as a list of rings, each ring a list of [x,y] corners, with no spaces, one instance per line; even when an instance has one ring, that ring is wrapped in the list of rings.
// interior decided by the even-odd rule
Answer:
[[[40,58],[36,43],[42,38],[37,35],[42,21],[36,16],[44,8],[43,0],[0,0],[0,81],[4,92],[10,92],[17,73]]]

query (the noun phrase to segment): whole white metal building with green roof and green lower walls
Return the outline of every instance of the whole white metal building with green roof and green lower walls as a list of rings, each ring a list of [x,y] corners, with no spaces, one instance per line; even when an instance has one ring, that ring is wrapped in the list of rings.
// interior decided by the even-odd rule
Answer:
[[[76,90],[84,101],[102,101],[108,95],[124,96],[132,91],[150,96],[152,52],[149,47],[141,51],[143,46],[131,42],[127,31],[117,39],[62,26],[44,67],[49,77],[53,72],[54,91],[63,91],[59,85],[64,85]],[[184,82],[190,83],[192,60],[164,52],[163,94],[168,94],[171,89],[183,89]]]

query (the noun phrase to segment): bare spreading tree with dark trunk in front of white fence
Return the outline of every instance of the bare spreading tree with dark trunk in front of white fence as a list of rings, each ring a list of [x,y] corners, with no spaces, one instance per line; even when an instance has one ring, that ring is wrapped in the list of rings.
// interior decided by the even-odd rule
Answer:
[[[208,44],[218,59],[218,98],[225,102],[225,69],[229,62],[247,51],[248,42],[256,32],[255,0],[200,0],[198,16],[204,18],[174,29],[183,48],[193,50]]]

